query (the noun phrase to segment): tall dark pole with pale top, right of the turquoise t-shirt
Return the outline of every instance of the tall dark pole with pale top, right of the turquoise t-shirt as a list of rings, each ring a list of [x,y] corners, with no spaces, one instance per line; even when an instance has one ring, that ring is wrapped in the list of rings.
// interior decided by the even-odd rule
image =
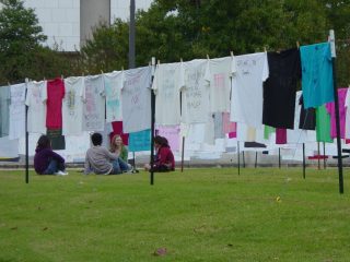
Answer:
[[[331,48],[331,66],[332,66],[332,84],[335,95],[336,109],[336,127],[337,127],[337,148],[338,148],[338,172],[339,172],[339,193],[343,193],[343,177],[342,177],[342,158],[341,158],[341,141],[340,141],[340,117],[339,117],[339,99],[337,92],[337,74],[336,74],[336,37],[335,31],[329,31],[329,41]]]

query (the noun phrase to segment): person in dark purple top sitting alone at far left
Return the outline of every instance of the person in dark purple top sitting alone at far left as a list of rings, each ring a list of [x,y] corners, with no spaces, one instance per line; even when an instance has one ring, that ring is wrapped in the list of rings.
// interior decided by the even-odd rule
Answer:
[[[43,134],[36,144],[34,156],[34,169],[38,175],[65,176],[65,159],[51,148],[50,139]]]

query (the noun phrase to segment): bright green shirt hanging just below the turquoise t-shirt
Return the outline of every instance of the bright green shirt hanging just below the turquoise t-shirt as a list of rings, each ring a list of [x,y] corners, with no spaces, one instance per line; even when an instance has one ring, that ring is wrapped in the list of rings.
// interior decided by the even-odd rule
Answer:
[[[325,105],[316,108],[316,139],[317,142],[332,143],[330,138],[330,115]]]

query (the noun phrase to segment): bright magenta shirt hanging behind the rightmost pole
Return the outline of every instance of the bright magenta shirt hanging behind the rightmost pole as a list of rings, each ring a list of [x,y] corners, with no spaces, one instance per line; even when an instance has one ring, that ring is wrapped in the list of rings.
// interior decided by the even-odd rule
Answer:
[[[340,138],[346,138],[346,98],[348,88],[338,88],[338,102],[339,102],[339,120],[340,120]],[[336,107],[335,103],[327,103],[326,109],[330,114],[330,136],[337,138],[337,124],[336,124]]]

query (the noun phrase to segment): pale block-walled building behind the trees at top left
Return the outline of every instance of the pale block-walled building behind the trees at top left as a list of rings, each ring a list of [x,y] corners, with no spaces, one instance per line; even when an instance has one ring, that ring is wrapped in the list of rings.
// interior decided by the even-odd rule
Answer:
[[[98,20],[114,22],[116,17],[129,19],[129,0],[23,0],[32,8],[48,39],[46,45],[59,50],[80,49],[91,27]],[[152,0],[136,0],[136,9],[148,9]]]

